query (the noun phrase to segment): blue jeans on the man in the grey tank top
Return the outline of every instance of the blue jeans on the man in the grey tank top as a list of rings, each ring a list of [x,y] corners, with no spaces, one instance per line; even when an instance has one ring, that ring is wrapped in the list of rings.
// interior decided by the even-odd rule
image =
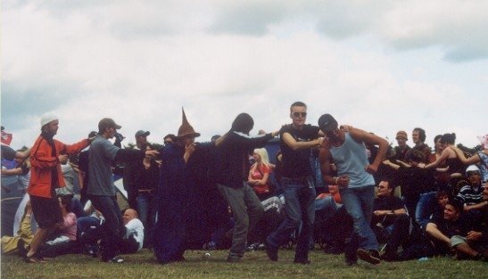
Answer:
[[[377,250],[376,235],[370,226],[373,215],[373,202],[375,200],[375,186],[343,188],[340,192],[343,207],[352,217],[354,226],[352,237],[359,237],[359,248]]]

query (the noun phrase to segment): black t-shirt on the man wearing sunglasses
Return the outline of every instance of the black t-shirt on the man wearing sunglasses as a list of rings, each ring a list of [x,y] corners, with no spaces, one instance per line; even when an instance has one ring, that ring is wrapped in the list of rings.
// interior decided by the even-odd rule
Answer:
[[[282,176],[300,177],[313,174],[310,165],[310,148],[294,151],[283,141],[283,134],[289,133],[297,142],[310,142],[318,138],[318,127],[310,124],[304,125],[301,130],[292,125],[286,125],[280,131],[280,148],[283,153]]]

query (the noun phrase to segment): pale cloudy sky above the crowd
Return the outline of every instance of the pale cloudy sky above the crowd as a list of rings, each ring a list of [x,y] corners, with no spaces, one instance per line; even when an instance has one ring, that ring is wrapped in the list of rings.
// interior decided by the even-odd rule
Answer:
[[[64,143],[105,117],[125,144],[138,129],[161,143],[182,106],[207,141],[243,111],[252,132],[276,130],[295,101],[312,124],[331,113],[390,142],[414,127],[431,146],[437,134],[467,146],[488,134],[482,0],[11,0],[1,18],[14,148],[34,143],[46,111]]]

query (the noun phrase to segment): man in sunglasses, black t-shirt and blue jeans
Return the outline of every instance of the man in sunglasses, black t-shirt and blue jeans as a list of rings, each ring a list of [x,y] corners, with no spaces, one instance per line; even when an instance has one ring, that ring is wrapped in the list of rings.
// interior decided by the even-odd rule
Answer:
[[[281,185],[285,194],[286,217],[275,232],[267,238],[269,259],[277,261],[277,250],[300,224],[294,263],[310,264],[309,242],[315,217],[315,185],[310,165],[310,150],[322,141],[317,126],[305,124],[307,105],[295,102],[290,107],[292,124],[280,131],[280,149],[283,154],[283,175]]]

